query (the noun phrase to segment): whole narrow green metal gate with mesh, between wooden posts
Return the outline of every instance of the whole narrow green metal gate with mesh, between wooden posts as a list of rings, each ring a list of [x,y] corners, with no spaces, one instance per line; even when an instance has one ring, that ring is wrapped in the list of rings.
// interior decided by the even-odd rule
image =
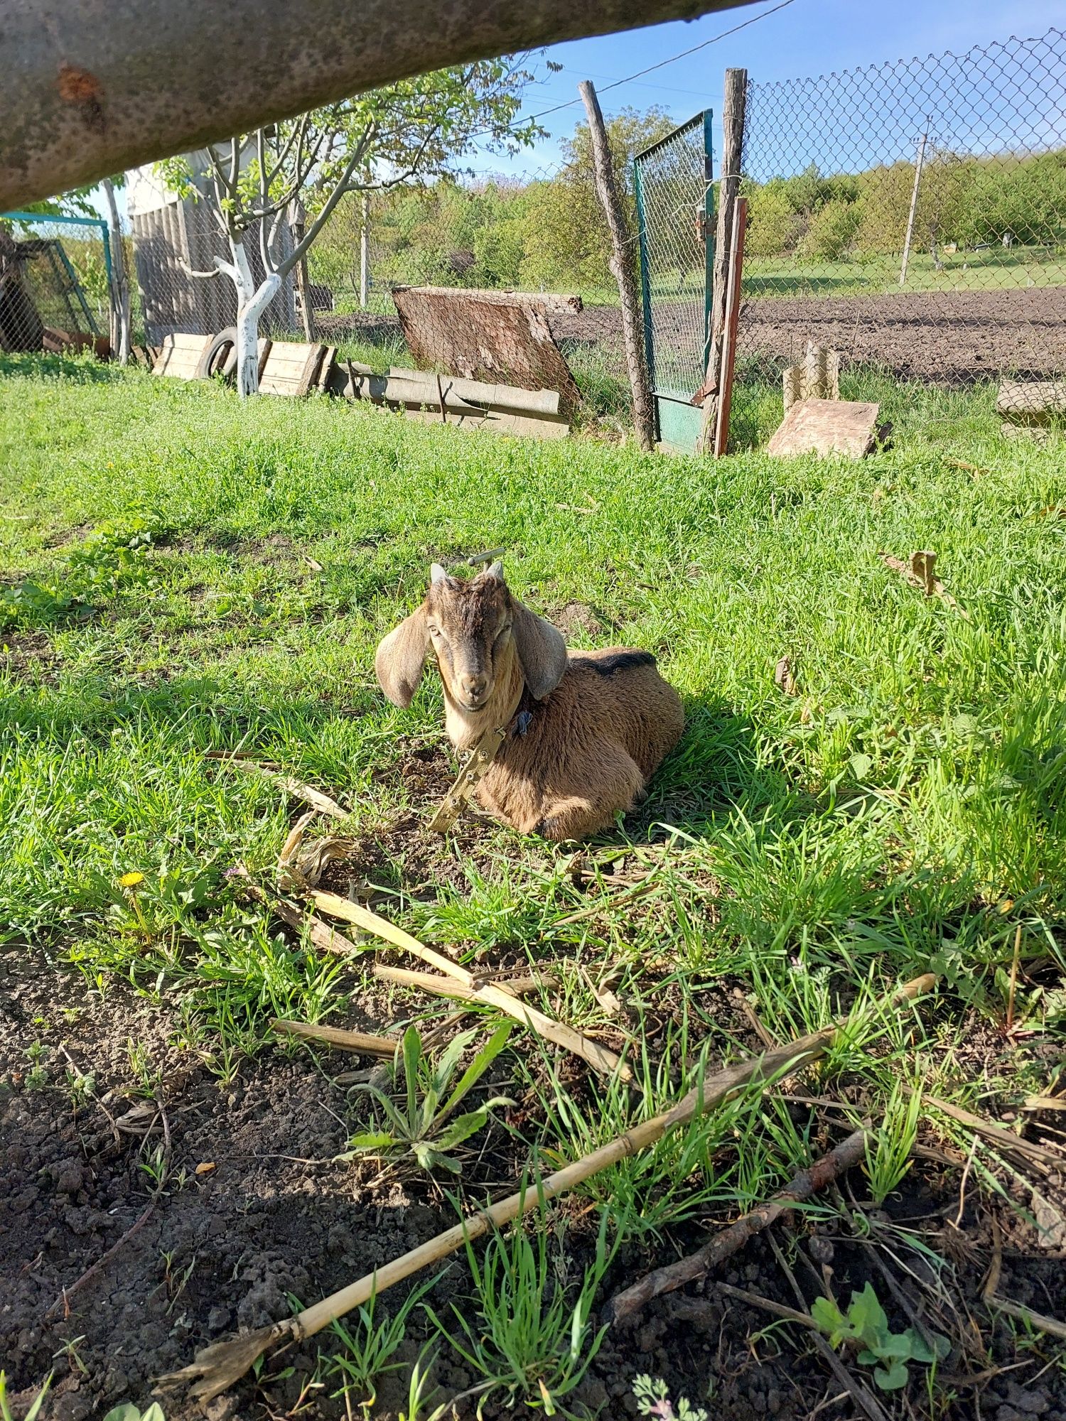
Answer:
[[[637,153],[644,348],[657,438],[694,453],[715,261],[711,109]]]

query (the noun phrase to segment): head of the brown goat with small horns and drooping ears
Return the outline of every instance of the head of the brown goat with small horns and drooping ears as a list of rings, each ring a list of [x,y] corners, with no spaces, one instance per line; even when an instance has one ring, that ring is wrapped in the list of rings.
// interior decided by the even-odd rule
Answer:
[[[493,703],[515,658],[537,701],[566,671],[561,634],[510,595],[499,563],[469,581],[434,563],[425,601],[385,637],[374,658],[381,689],[394,705],[411,705],[431,649],[449,701],[465,715]]]

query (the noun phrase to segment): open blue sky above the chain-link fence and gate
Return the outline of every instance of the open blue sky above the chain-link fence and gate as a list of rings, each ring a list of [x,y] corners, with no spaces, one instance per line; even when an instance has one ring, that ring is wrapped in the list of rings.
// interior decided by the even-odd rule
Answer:
[[[1066,28],[1062,0],[792,0],[769,14],[777,0],[766,4],[719,10],[694,21],[674,21],[613,34],[596,40],[574,40],[553,45],[546,58],[563,65],[560,74],[547,70],[544,57],[534,60],[537,81],[527,92],[526,112],[537,114],[577,98],[577,84],[590,78],[597,90],[625,78],[661,60],[701,44],[733,26],[765,14],[738,34],[711,44],[696,54],[668,64],[654,74],[604,92],[601,104],[610,117],[618,108],[647,108],[659,104],[678,121],[702,108],[718,111],[722,102],[722,72],[729,65],[745,67],[753,84],[773,80],[816,77],[891,60],[925,57],[952,50],[965,53],[975,44],[1011,36],[1043,34],[1052,26]],[[583,118],[578,104],[546,115],[549,131],[534,149],[515,159],[492,153],[475,156],[470,166],[482,172],[536,172],[559,163],[559,141],[567,138]]]

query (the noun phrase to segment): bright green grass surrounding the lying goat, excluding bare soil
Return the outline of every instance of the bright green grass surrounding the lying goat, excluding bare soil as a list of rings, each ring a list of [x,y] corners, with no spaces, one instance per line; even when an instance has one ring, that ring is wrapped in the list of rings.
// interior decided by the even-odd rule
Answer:
[[[651,648],[684,695],[684,740],[628,837],[608,836],[650,877],[628,901],[578,895],[569,851],[486,826],[463,881],[401,894],[389,915],[490,963],[547,962],[546,1006],[590,1030],[614,1020],[610,965],[647,1111],[701,1049],[750,1050],[715,1006],[722,979],[785,1040],[932,963],[941,1006],[867,1023],[822,1077],[847,1077],[883,1120],[878,1194],[912,1134],[900,1079],[994,1114],[1050,1088],[1025,1039],[976,1064],[967,1052],[976,1023],[1003,1029],[1019,924],[1015,1022],[1039,1040],[1066,1006],[1060,445],[1003,441],[989,387],[863,378],[894,419],[890,450],[714,463],[7,358],[3,942],[92,990],[121,979],[173,1005],[223,1080],[270,1016],[335,1012],[358,973],[281,936],[227,874],[271,870],[294,806],[203,752],[280,762],[351,806],[355,834],[425,813],[401,737],[441,742],[441,691],[426,678],[408,710],[387,705],[374,647],[432,560],[503,547],[520,597],[581,601],[613,625],[573,641]],[[739,399],[752,438],[770,394]],[[877,556],[912,549],[940,554],[965,617]],[[785,655],[796,696],[775,685]],[[144,881],[124,887],[128,872]],[[520,1158],[573,1158],[637,1118],[618,1091],[570,1098],[523,1056],[540,1108]],[[964,1127],[938,1130],[969,1148]],[[790,1113],[748,1101],[587,1194],[655,1239],[765,1196],[812,1148]],[[1002,1165],[982,1145],[974,1187],[995,1188]]]

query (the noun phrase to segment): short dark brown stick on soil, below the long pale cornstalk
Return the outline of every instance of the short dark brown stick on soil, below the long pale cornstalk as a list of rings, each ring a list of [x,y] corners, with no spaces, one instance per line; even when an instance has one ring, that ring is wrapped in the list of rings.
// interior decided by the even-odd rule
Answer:
[[[721,1233],[716,1233],[696,1253],[689,1253],[688,1258],[682,1258],[677,1263],[669,1263],[667,1268],[657,1268],[631,1287],[615,1293],[604,1309],[604,1320],[610,1323],[624,1322],[632,1313],[645,1307],[654,1297],[659,1297],[662,1293],[672,1293],[677,1287],[684,1287],[685,1283],[692,1283],[709,1273],[712,1268],[718,1268],[723,1259],[736,1253],[750,1238],[760,1233],[762,1229],[769,1228],[787,1209],[793,1209],[800,1201],[809,1199],[812,1194],[817,1194],[819,1189],[823,1189],[841,1175],[844,1169],[850,1169],[858,1164],[866,1151],[867,1131],[868,1124],[856,1130],[847,1140],[841,1141],[834,1150],[830,1150],[829,1154],[822,1155],[809,1168],[800,1169],[780,1194],[775,1194],[768,1204],[745,1214],[743,1218],[731,1223],[728,1229],[722,1229]]]

